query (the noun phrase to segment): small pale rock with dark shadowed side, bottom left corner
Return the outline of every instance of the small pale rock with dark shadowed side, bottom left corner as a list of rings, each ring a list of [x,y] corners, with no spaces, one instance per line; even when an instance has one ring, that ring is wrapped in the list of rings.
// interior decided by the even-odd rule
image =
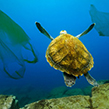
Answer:
[[[0,109],[19,109],[15,96],[0,95]]]

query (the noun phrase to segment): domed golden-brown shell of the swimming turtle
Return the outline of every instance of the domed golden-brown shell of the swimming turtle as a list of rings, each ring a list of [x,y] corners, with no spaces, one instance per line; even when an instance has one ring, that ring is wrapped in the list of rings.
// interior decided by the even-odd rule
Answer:
[[[93,67],[93,57],[84,44],[70,34],[61,34],[51,41],[46,59],[57,70],[81,76]]]

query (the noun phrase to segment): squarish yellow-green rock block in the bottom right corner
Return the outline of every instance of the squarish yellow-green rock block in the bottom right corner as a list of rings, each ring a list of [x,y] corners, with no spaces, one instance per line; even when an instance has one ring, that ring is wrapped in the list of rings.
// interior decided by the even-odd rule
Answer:
[[[94,109],[109,109],[109,83],[94,87],[91,99]]]

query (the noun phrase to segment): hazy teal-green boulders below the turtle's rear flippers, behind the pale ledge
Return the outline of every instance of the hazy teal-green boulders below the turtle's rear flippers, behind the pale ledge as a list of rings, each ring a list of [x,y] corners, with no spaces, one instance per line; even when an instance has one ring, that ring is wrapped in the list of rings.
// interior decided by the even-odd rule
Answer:
[[[99,80],[97,81],[99,85],[109,83],[109,80]],[[48,95],[46,95],[46,99],[51,98],[62,98],[74,95],[89,95],[91,96],[91,89],[93,86],[89,85],[85,88],[67,88],[65,86],[60,86],[53,88]]]

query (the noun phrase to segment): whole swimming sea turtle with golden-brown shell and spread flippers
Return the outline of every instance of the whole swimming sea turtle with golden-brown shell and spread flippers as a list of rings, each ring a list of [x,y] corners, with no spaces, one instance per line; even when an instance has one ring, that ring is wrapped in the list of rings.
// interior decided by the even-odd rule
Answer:
[[[62,30],[60,35],[54,39],[40,23],[36,22],[39,31],[52,40],[46,51],[46,59],[52,67],[63,72],[67,87],[72,87],[75,84],[76,77],[79,78],[83,74],[90,84],[98,86],[96,80],[88,73],[94,64],[93,57],[78,39],[87,34],[94,25],[93,23],[76,37]]]

